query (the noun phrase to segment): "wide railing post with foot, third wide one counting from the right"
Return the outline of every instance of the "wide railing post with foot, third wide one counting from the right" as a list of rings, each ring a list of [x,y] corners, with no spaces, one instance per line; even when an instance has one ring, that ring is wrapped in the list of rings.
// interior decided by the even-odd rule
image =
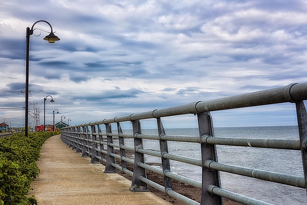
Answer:
[[[112,133],[111,124],[105,124],[105,131],[106,131],[106,142],[107,142],[107,156],[106,156],[106,163],[104,173],[117,173],[116,168],[111,166],[111,163],[115,163],[115,158],[110,155],[110,153],[114,153],[114,147],[109,146],[110,143],[113,144],[113,137],[108,136],[108,133]]]

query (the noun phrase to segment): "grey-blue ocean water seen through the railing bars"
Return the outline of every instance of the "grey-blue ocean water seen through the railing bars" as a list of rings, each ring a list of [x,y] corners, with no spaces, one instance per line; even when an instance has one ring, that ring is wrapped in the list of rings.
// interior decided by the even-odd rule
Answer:
[[[131,130],[124,130],[131,133]],[[167,135],[198,136],[198,128],[165,129]],[[156,129],[144,129],[143,134],[157,135]],[[217,137],[299,139],[297,126],[214,128]],[[116,142],[115,142],[116,143]],[[133,139],[125,139],[133,146]],[[158,140],[143,140],[144,149],[159,151]],[[295,176],[303,176],[301,152],[236,146],[216,146],[218,162]],[[200,144],[168,141],[170,154],[201,159]],[[161,163],[161,159],[145,155],[146,162]],[[201,167],[170,160],[171,171],[198,181]],[[306,190],[245,176],[220,172],[222,188],[273,204],[307,204]]]

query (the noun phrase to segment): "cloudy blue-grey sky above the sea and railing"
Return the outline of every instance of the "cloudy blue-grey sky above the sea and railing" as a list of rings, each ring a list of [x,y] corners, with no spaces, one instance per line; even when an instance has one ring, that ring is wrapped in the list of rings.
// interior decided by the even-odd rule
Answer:
[[[5,0],[0,11],[0,121],[14,127],[25,121],[26,28],[37,20],[60,38],[42,39],[46,23],[30,37],[40,124],[47,95],[46,124],[58,109],[56,121],[76,125],[307,82],[307,1]],[[290,103],[211,114],[217,127],[297,124]],[[197,126],[193,115],[165,124]]]

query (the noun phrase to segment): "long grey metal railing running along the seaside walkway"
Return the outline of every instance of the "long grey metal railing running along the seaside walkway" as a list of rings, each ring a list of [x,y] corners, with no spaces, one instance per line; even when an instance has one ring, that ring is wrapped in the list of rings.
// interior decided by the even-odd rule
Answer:
[[[105,163],[105,173],[116,173],[118,169],[133,176],[130,191],[148,191],[147,185],[149,185],[187,204],[200,204],[174,192],[172,190],[171,179],[175,179],[193,187],[200,188],[202,190],[201,204],[223,204],[222,197],[243,204],[270,204],[222,189],[220,171],[306,189],[307,114],[303,103],[303,100],[306,99],[307,83],[291,84],[276,89],[210,101],[198,101],[178,107],[130,114],[62,128],[61,140],[69,147],[72,147],[72,149],[75,149],[76,152],[82,153],[82,157],[91,157],[91,163]],[[214,136],[212,117],[210,115],[211,111],[287,102],[296,104],[299,139]],[[197,115],[199,136],[171,136],[165,134],[162,118],[183,114]],[[150,118],[157,119],[158,135],[142,134],[141,120]],[[121,122],[124,121],[131,122],[133,134],[125,134],[122,132]],[[111,124],[113,123],[117,124],[117,133],[112,133]],[[101,131],[100,125],[105,125],[105,132]],[[118,144],[113,143],[114,137],[118,138]],[[124,139],[126,138],[134,139],[134,147],[125,146]],[[160,152],[144,149],[143,139],[158,140]],[[202,159],[168,153],[168,141],[194,142],[200,144]],[[301,150],[304,177],[219,163],[217,162],[216,145]],[[120,155],[115,154],[114,149],[119,149]],[[134,152],[134,159],[125,156],[126,150]],[[144,154],[160,157],[162,169],[147,165]],[[121,166],[116,163],[116,159],[121,161]],[[202,167],[202,182],[171,172],[169,160],[176,160]],[[133,163],[133,172],[127,169],[126,163]],[[164,186],[147,179],[146,170],[162,175],[164,178]]]

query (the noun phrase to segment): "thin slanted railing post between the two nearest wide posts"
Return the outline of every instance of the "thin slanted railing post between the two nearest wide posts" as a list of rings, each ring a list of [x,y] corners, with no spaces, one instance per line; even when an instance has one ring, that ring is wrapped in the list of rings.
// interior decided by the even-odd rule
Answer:
[[[157,118],[157,124],[158,124],[159,138],[160,138],[159,142],[160,142],[160,152],[161,152],[162,170],[164,178],[164,188],[165,188],[165,193],[167,193],[168,190],[172,190],[172,186],[171,186],[171,178],[165,176],[166,172],[170,172],[170,166],[169,166],[169,159],[165,159],[163,157],[165,153],[168,154],[168,147],[167,147],[167,141],[161,139],[161,136],[165,135],[165,131],[160,117]]]

